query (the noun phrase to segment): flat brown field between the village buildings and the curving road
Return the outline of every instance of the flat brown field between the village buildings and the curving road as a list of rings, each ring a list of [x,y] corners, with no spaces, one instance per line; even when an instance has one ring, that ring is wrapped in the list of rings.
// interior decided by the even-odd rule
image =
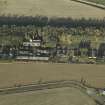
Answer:
[[[105,87],[104,65],[76,64],[0,64],[0,87],[30,84],[39,80],[80,80]]]

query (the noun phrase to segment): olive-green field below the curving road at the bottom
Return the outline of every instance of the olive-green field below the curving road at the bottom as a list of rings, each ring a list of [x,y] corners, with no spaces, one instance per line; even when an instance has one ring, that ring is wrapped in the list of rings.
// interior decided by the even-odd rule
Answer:
[[[0,105],[96,105],[76,88],[58,88],[0,96]]]

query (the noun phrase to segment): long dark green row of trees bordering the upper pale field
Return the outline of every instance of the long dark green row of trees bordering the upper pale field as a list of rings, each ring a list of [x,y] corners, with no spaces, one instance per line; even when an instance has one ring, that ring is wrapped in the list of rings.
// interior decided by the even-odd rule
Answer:
[[[2,25],[17,26],[54,26],[54,27],[105,27],[105,19],[72,19],[46,16],[0,16],[0,26]]]

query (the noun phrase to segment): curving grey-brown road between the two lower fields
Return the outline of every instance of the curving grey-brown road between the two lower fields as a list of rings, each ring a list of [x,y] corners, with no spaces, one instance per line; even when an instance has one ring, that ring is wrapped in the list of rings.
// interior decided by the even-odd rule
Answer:
[[[76,81],[76,80],[59,80],[59,81],[47,81],[47,82],[38,81],[37,83],[33,83],[33,84],[27,84],[27,85],[18,84],[13,87],[0,88],[0,95],[23,93],[23,92],[28,92],[28,91],[38,91],[38,90],[45,90],[45,89],[62,88],[62,87],[74,87],[74,88],[78,88],[84,91],[87,88],[98,89],[95,87],[91,87],[84,82]]]

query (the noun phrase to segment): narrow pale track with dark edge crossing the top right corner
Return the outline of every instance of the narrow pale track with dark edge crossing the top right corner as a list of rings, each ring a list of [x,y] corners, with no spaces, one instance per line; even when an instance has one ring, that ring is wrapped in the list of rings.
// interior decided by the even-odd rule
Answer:
[[[85,1],[85,0],[72,0],[72,1],[79,2],[79,3],[82,3],[82,4],[90,5],[90,6],[97,7],[97,8],[105,10],[105,6],[102,5],[102,4],[97,4],[97,3],[93,3],[93,2],[89,2],[89,1]]]

